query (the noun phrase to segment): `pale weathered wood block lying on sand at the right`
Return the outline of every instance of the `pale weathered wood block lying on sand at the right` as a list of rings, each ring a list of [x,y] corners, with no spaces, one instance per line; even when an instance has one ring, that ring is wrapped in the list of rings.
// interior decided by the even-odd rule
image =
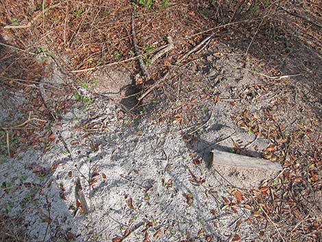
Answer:
[[[249,156],[242,156],[232,154],[230,152],[221,152],[219,150],[212,150],[212,164],[214,165],[228,165],[234,167],[241,167],[243,169],[256,169],[261,171],[281,171],[282,165],[270,160],[262,158],[255,158]]]

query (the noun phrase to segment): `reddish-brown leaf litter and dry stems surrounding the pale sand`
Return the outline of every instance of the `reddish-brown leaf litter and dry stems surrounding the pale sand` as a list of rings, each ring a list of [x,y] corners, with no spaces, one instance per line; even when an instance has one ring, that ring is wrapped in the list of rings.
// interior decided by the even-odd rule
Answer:
[[[138,83],[142,90],[210,34],[242,50],[243,60],[252,58],[261,62],[267,76],[279,75],[278,71],[283,68],[295,73],[306,71],[310,73],[306,75],[310,80],[306,83],[299,80],[299,83],[308,87],[307,99],[314,97],[317,101],[308,101],[306,106],[287,104],[283,100],[279,104],[299,110],[297,128],[283,127],[288,118],[276,108],[264,111],[263,115],[269,117],[267,122],[247,112],[233,114],[232,119],[242,127],[251,128],[250,120],[259,123],[262,127],[259,135],[270,137],[274,144],[269,151],[274,155],[267,158],[284,165],[278,180],[264,182],[257,190],[245,192],[249,204],[257,208],[253,219],[263,224],[260,233],[270,232],[275,241],[321,241],[321,3],[169,0],[151,1],[151,5],[145,1],[142,5],[137,2],[0,0],[1,89],[8,92],[21,89],[30,100],[30,106],[22,112],[32,110],[39,117],[50,119],[50,111],[38,93],[40,78],[48,74],[44,71],[46,56],[52,56],[75,80],[72,85],[66,85],[66,93],[53,92],[57,97],[73,93],[84,80],[92,82],[91,73],[104,66],[125,68],[136,75],[140,69],[136,65],[131,34],[134,9],[137,45],[140,54],[147,56],[146,62],[154,52],[168,45],[167,36],[172,36],[175,44],[173,51],[150,67],[151,80]],[[212,40],[211,44],[215,42]],[[297,49],[297,55],[283,66],[290,49]],[[314,49],[316,55],[311,56],[310,63],[299,63],[301,57],[310,55],[307,49]],[[283,80],[272,80],[271,85],[280,93],[290,87]],[[295,85],[284,96],[297,91]],[[57,105],[62,112],[69,101]],[[45,127],[44,123],[34,123],[34,128],[40,127]],[[38,138],[32,130],[10,130],[10,137],[18,137],[29,145],[37,143]],[[1,133],[1,139],[5,140],[5,132]],[[12,156],[18,154],[18,146],[12,147]],[[23,235],[17,237],[11,230],[12,226],[18,227],[19,218],[0,215],[0,222],[3,241],[25,241]]]

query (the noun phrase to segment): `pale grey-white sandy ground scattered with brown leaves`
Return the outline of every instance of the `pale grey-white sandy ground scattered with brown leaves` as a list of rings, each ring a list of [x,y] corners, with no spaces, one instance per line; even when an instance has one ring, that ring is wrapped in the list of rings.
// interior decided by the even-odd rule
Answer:
[[[244,151],[249,156],[260,157],[270,145],[229,118],[236,108],[232,100],[240,99],[235,91],[262,78],[227,66],[232,59],[219,50],[227,47],[208,56],[208,64],[217,66],[202,75],[223,101],[203,101],[192,128],[155,119],[153,113],[129,117],[115,99],[131,85],[121,71],[105,81],[100,74],[101,88],[79,89],[93,103],[75,102],[51,125],[50,149],[2,159],[1,212],[23,217],[30,241],[262,241],[240,191],[277,174],[209,167],[210,151],[232,152],[232,138],[251,143]],[[47,81],[59,84],[64,78],[57,72]],[[109,82],[114,85],[106,90]],[[265,95],[253,108],[271,101],[271,94]]]

